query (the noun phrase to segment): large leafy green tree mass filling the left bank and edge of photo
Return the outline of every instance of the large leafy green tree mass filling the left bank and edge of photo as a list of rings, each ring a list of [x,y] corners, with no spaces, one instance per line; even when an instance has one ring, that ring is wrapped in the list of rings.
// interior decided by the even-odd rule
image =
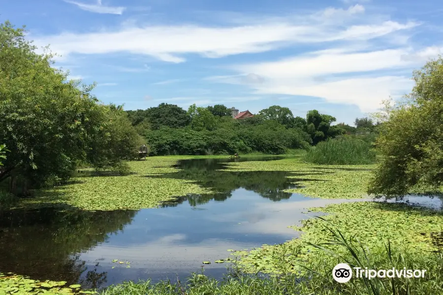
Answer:
[[[23,179],[24,194],[50,178],[69,178],[78,160],[99,162],[94,147],[107,146],[112,126],[109,106],[91,94],[95,85],[66,82],[68,73],[51,67],[49,49],[35,50],[24,28],[0,25],[0,138],[13,150],[0,181],[10,177],[15,191]]]

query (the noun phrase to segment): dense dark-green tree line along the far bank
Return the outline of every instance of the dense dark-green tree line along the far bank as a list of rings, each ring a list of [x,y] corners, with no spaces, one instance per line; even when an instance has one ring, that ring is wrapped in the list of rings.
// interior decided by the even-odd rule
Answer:
[[[186,111],[174,104],[161,103],[146,110],[127,111],[137,132],[146,139],[150,155],[234,154],[236,152],[285,153],[288,148],[306,149],[329,138],[373,131],[371,119],[357,119],[356,127],[336,118],[307,112],[306,118],[294,117],[281,106],[271,106],[254,117],[234,119],[226,106],[191,105]],[[366,125],[363,126],[363,123]],[[370,126],[368,128],[368,126]]]

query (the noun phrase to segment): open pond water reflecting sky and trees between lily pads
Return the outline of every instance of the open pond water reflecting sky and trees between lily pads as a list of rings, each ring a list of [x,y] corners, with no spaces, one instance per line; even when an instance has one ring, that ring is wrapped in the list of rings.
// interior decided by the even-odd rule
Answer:
[[[183,160],[177,164],[180,172],[155,176],[194,180],[218,192],[179,197],[159,208],[0,211],[0,271],[85,288],[148,278],[183,280],[202,267],[205,274],[220,278],[226,264],[214,261],[228,257],[228,249],[283,243],[297,236],[287,226],[320,214],[306,208],[346,201],[284,192],[304,180],[300,173],[221,171],[232,161]],[[298,180],[289,182],[290,175]]]

